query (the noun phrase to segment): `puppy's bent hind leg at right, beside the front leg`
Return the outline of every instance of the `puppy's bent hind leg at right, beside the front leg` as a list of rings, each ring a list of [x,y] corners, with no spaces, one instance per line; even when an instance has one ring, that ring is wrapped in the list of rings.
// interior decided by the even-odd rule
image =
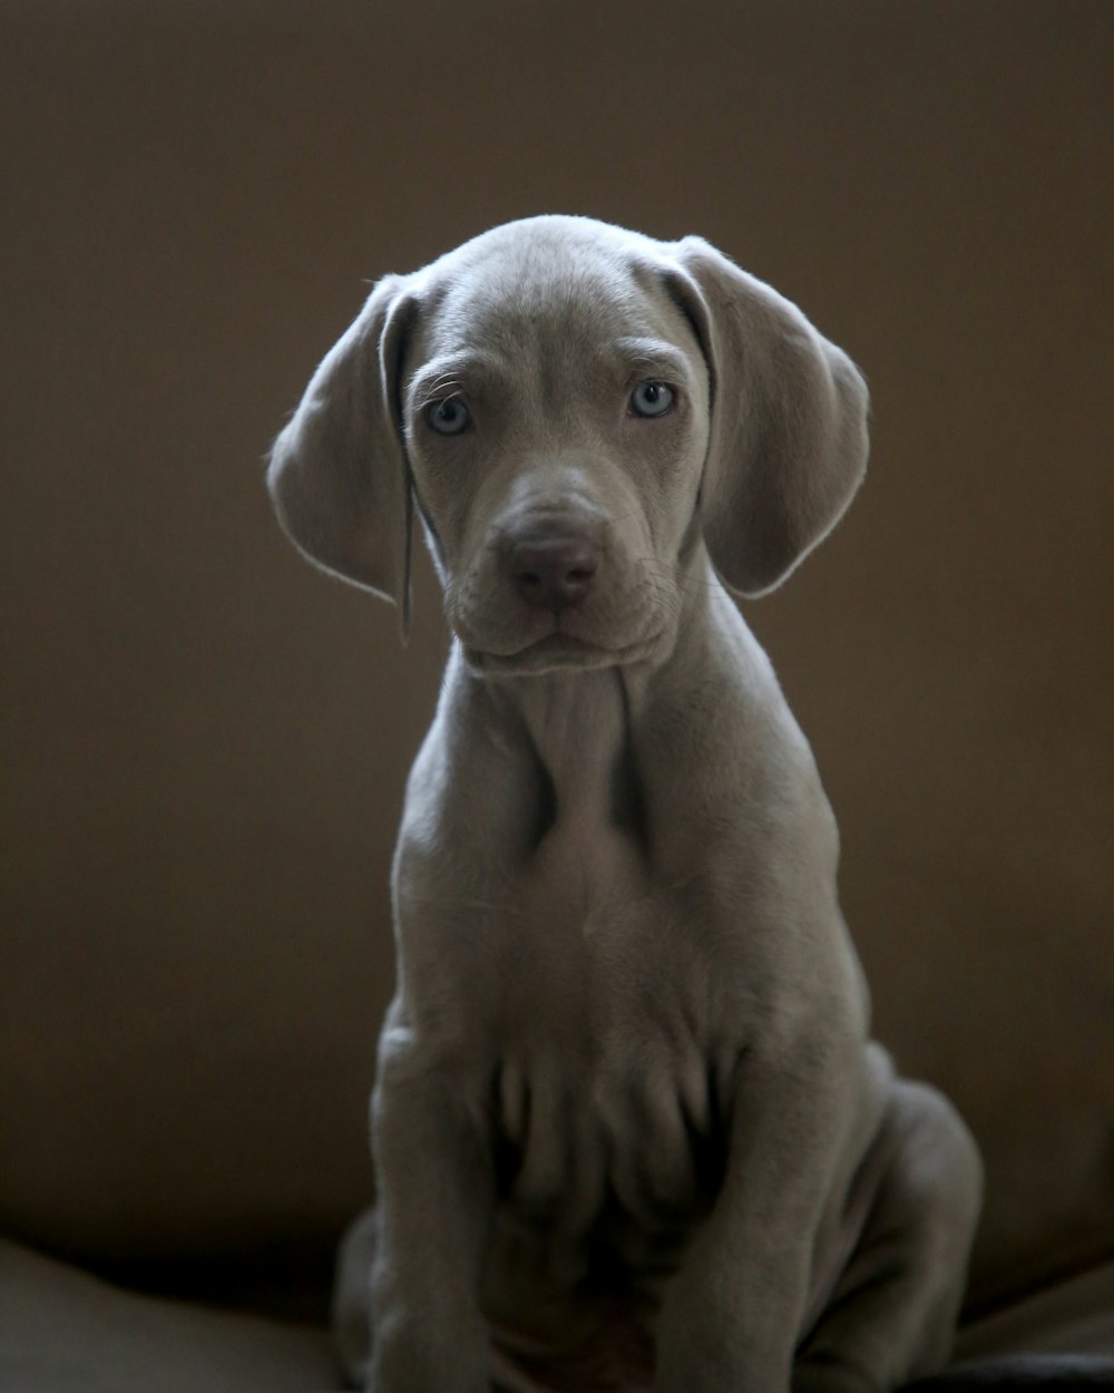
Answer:
[[[887,1393],[951,1351],[982,1201],[966,1127],[934,1089],[895,1081],[855,1184],[873,1190],[869,1215],[798,1348],[794,1393]]]

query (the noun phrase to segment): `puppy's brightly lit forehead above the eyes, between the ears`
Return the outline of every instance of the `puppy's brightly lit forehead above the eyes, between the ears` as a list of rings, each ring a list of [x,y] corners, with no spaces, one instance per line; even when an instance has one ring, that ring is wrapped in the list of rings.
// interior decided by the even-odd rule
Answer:
[[[423,357],[675,338],[682,316],[664,288],[667,265],[659,244],[588,219],[497,227],[419,273]]]

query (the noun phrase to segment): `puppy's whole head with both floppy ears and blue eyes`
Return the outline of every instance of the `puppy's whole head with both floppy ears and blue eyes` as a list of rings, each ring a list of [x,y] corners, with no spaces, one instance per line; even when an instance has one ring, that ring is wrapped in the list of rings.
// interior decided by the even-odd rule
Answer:
[[[278,517],[409,614],[416,507],[473,666],[673,646],[706,546],[777,585],[866,465],[866,389],[795,306],[699,238],[497,227],[376,286],[276,442]]]

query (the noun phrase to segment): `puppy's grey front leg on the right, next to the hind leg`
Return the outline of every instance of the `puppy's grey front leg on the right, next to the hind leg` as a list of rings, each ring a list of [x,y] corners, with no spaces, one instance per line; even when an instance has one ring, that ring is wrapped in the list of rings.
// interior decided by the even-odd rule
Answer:
[[[657,1393],[788,1393],[813,1244],[856,1109],[851,1029],[758,1041],[741,1057],[714,1208],[667,1287]]]

